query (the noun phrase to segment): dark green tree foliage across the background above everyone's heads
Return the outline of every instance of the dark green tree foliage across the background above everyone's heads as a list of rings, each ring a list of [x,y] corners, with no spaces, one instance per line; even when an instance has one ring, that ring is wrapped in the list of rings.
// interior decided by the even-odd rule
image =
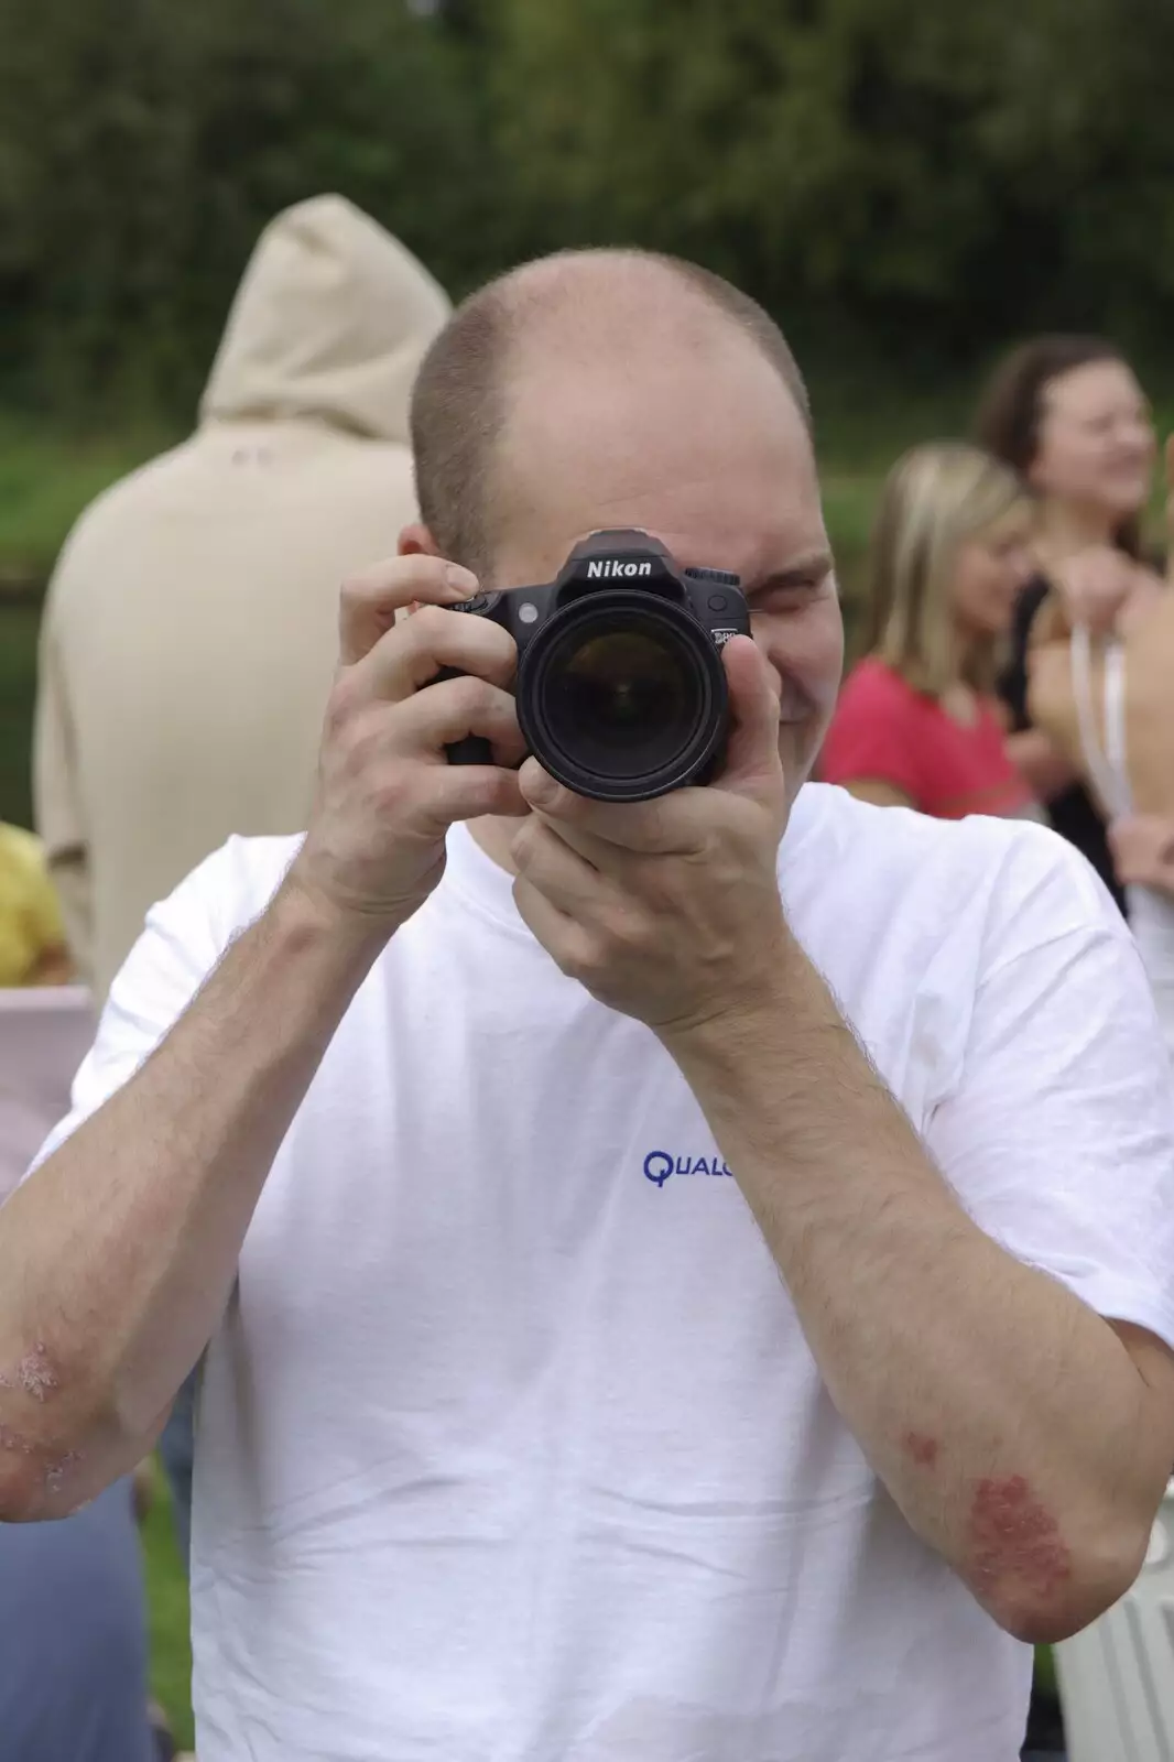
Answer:
[[[1172,0],[0,0],[0,377],[190,411],[324,189],[455,292],[629,240],[903,361],[1163,340],[1170,67]]]

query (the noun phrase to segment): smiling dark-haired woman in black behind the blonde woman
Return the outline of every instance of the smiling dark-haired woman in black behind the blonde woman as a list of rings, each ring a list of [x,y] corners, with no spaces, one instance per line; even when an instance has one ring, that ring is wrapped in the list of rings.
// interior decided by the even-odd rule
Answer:
[[[1017,606],[1001,689],[1010,712],[1008,751],[1047,802],[1056,830],[1121,902],[1103,818],[1070,758],[1033,726],[1028,648],[1049,603],[1070,626],[1103,624],[1133,592],[1155,585],[1141,557],[1141,511],[1156,448],[1149,405],[1111,342],[1038,337],[994,374],[977,433],[1021,474],[1038,506],[1037,574]]]

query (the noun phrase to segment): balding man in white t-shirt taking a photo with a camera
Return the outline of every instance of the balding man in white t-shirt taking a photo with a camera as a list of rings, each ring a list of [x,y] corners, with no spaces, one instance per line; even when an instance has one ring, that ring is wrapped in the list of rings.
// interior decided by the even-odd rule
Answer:
[[[732,287],[520,270],[412,428],[305,840],[157,907],[0,1218],[0,1515],[134,1464],[206,1348],[201,1762],[1010,1762],[1174,1461],[1125,927],[1038,826],[806,782],[836,581]],[[617,527],[753,627],[721,774],[624,805],[524,761],[450,610]]]

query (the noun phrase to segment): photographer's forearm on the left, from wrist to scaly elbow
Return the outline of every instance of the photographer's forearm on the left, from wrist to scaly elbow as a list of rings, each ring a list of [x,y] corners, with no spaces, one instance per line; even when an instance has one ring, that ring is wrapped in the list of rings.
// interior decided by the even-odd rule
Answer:
[[[0,1212],[0,1517],[69,1512],[152,1441],[379,946],[286,885],[143,1070]]]

